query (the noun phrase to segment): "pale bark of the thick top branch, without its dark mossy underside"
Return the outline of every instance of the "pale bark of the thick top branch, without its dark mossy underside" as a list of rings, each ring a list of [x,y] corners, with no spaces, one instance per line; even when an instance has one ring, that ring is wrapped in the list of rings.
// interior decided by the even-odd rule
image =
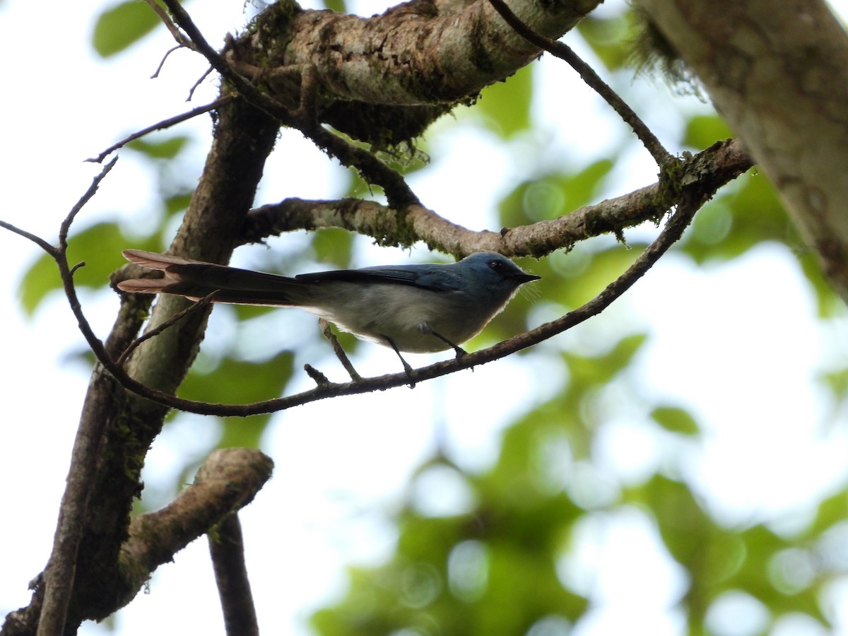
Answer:
[[[533,30],[558,38],[599,3],[525,0],[513,9]],[[239,59],[268,71],[314,65],[326,98],[372,104],[455,103],[539,54],[488,2],[454,14],[414,0],[371,18],[288,11],[285,20],[273,13],[260,20],[273,20],[275,26],[256,25],[241,39]]]

